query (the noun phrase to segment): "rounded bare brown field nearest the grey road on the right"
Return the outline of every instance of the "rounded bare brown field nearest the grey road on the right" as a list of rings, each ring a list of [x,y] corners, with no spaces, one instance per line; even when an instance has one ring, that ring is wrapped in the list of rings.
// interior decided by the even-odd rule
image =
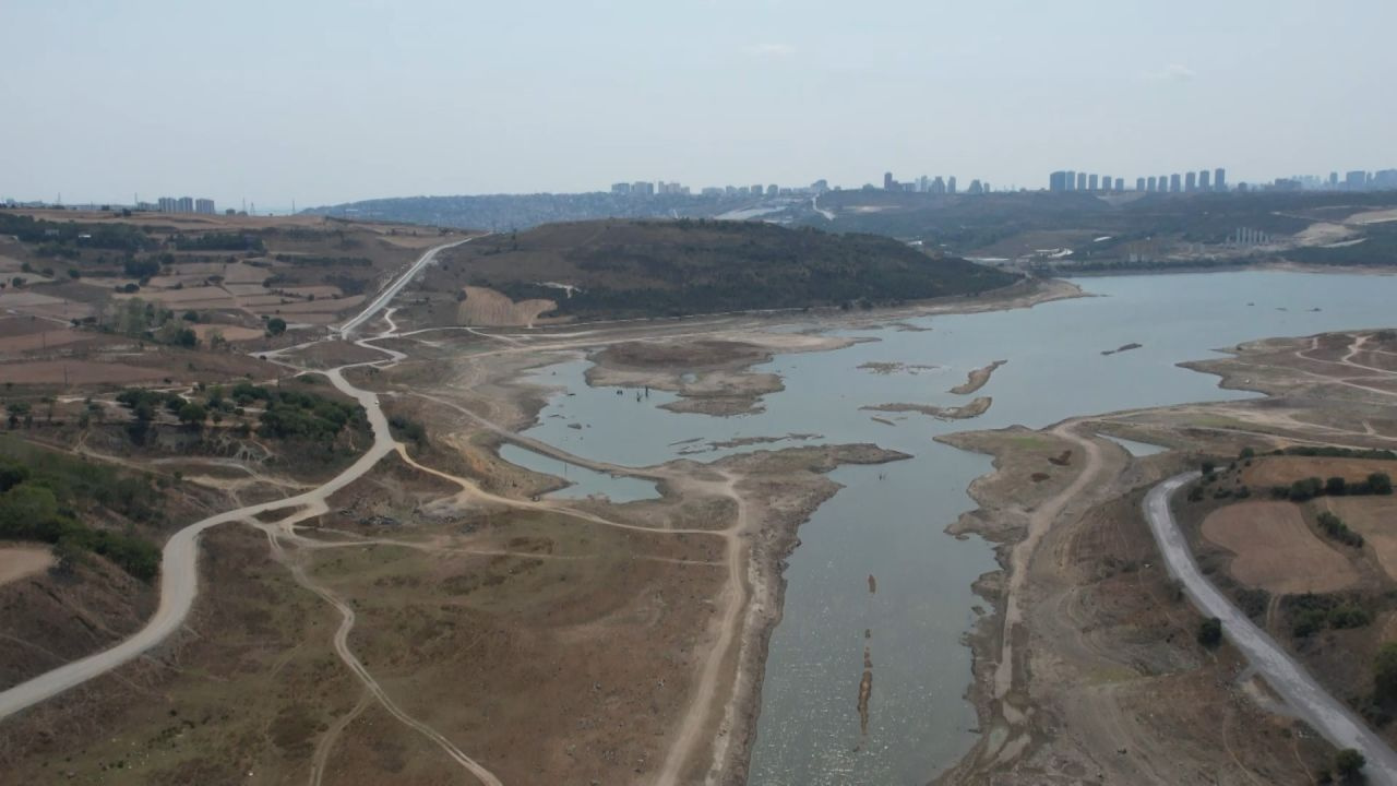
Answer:
[[[1305,526],[1291,502],[1242,502],[1203,520],[1203,537],[1236,557],[1234,579],[1277,594],[1327,593],[1352,586],[1358,573],[1343,554]]]

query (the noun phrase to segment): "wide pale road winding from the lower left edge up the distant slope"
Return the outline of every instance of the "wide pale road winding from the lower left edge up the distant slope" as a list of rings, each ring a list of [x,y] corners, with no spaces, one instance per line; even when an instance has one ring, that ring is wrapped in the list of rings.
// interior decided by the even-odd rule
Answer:
[[[383,308],[388,305],[388,301],[391,301],[393,296],[402,290],[404,284],[436,257],[437,252],[464,243],[469,238],[454,243],[446,243],[423,253],[422,257],[398,280],[390,284],[379,298],[369,303],[369,306],[353,319],[341,326],[339,334],[352,334],[355,327],[363,324],[376,313],[383,310]],[[346,470],[331,478],[320,488],[296,496],[263,502],[260,505],[250,505],[247,508],[239,508],[236,510],[228,510],[226,513],[210,516],[200,522],[194,522],[170,536],[169,541],[165,543],[165,551],[161,557],[161,603],[149,622],[147,622],[140,632],[110,649],[89,655],[81,660],[74,660],[73,663],[60,666],[52,671],[34,677],[25,683],[20,683],[13,688],[0,692],[0,719],[39,703],[50,696],[67,691],[68,688],[77,687],[94,677],[99,677],[117,666],[129,663],[177,631],[179,627],[184,624],[184,618],[189,617],[189,611],[194,606],[194,597],[198,594],[198,536],[203,534],[204,530],[222,523],[249,519],[267,510],[305,508],[306,517],[319,515],[326,510],[326,499],[331,494],[362,477],[374,464],[377,464],[380,459],[397,448],[397,443],[390,435],[387,418],[379,407],[379,396],[373,392],[360,390],[349,385],[341,373],[344,368],[349,366],[330,369],[326,372],[326,376],[330,378],[330,382],[339,392],[363,404],[363,408],[369,415],[369,425],[373,427],[373,446],[359,456],[359,459]]]

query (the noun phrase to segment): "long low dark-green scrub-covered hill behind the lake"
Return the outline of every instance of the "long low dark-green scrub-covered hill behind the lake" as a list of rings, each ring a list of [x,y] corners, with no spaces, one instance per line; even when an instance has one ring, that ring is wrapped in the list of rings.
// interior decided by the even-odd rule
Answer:
[[[876,235],[760,222],[590,221],[481,238],[455,249],[434,287],[475,285],[556,301],[560,316],[680,316],[802,306],[890,305],[972,295],[1017,281],[933,259]],[[549,284],[569,284],[569,296]]]

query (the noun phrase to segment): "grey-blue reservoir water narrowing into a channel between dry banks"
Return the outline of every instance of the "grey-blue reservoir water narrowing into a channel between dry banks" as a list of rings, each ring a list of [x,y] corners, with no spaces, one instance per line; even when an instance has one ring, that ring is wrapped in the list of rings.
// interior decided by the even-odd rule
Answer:
[[[877,341],[782,355],[759,366],[780,373],[787,389],[767,396],[766,411],[753,415],[675,414],[658,408],[673,400],[671,394],[637,401],[633,392],[592,389],[583,379],[585,361],[546,369],[548,383],[571,394],[550,399],[528,434],[592,459],[645,466],[708,442],[800,434],[831,443],[876,442],[914,456],[834,471],[847,488],[800,529],[802,545],[785,573],[784,618],[771,638],[750,783],[921,785],[974,743],[977,719],[964,699],[970,650],[961,641],[982,603],[971,582],[996,565],[986,543],[956,540],[943,530],[974,506],[965,490],[990,464],[932,436],[1248,397],[1175,364],[1217,357],[1211,350],[1253,338],[1397,323],[1397,277],[1243,271],[1078,284],[1099,296],[909,322],[926,331],[837,331]],[[1141,347],[1101,354],[1125,344]],[[1009,362],[979,392],[947,393],[967,372],[996,359]],[[880,375],[858,368],[866,362],[935,368]],[[967,421],[859,411],[898,401],[957,406],[974,396],[992,396],[993,406]],[[690,457],[752,449],[715,448]],[[1150,449],[1157,448],[1132,446]],[[587,483],[608,494],[609,484],[619,484],[609,476]],[[870,575],[876,593],[869,592]],[[866,736],[856,708],[865,646],[873,663]]]

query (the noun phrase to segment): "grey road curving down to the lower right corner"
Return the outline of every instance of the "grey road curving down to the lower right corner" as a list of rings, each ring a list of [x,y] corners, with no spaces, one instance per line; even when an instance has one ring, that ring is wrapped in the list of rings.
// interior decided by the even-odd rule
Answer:
[[[1252,666],[1266,677],[1266,683],[1285,698],[1299,717],[1334,745],[1359,750],[1368,758],[1366,773],[1370,783],[1397,785],[1397,754],[1391,747],[1373,734],[1343,702],[1329,695],[1305,667],[1252,624],[1246,614],[1232,606],[1199,571],[1189,544],[1173,520],[1173,512],[1169,510],[1169,498],[1173,492],[1196,477],[1199,477],[1196,471],[1175,476],[1150,490],[1144,498],[1144,515],[1169,566],[1169,573],[1183,582],[1194,606],[1206,615],[1222,621],[1222,632],[1228,641],[1242,650]]]

